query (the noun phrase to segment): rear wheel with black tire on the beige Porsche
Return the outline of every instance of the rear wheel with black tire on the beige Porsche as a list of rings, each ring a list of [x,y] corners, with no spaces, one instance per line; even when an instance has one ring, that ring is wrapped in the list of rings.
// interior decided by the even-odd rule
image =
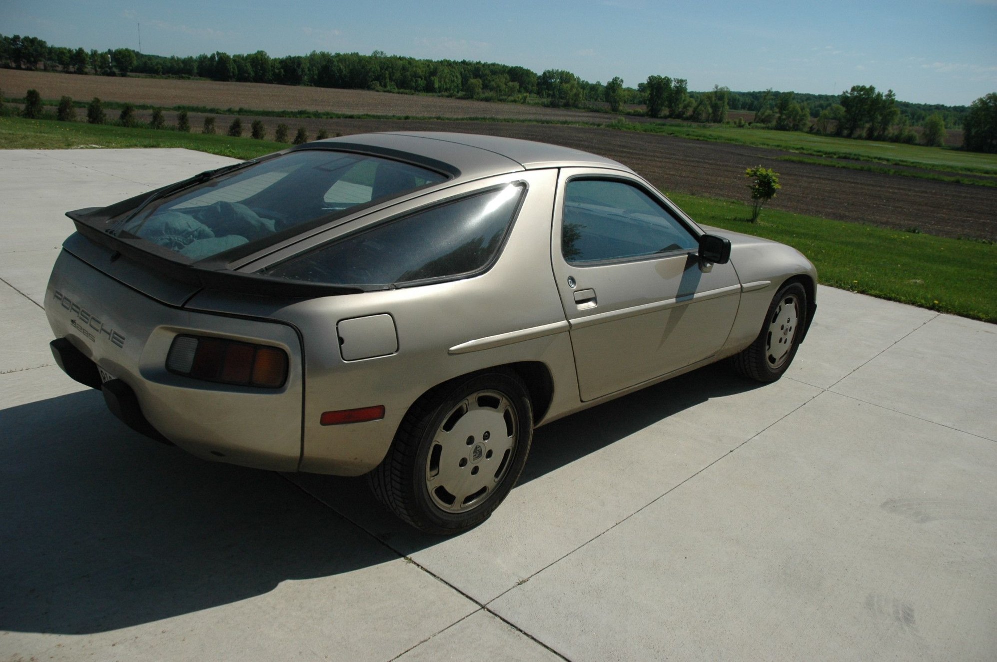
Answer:
[[[459,533],[488,519],[508,495],[532,437],[529,395],[514,373],[468,375],[433,389],[409,409],[368,483],[416,528]]]

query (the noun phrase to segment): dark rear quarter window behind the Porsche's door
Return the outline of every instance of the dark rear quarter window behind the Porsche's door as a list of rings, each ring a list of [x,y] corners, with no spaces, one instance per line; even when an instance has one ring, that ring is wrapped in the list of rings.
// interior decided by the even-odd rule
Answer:
[[[281,262],[267,275],[343,285],[478,272],[495,259],[525,186],[508,184],[381,223]]]

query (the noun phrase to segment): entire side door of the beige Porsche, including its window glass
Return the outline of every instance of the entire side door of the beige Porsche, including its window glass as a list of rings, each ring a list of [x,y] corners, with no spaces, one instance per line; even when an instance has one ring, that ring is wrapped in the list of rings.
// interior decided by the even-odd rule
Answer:
[[[713,357],[734,323],[732,264],[701,260],[695,224],[628,173],[562,168],[551,262],[583,401]]]

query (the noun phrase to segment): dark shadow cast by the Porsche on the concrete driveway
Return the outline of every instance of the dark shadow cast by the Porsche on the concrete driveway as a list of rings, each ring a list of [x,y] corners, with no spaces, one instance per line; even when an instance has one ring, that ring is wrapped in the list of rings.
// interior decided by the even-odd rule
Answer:
[[[520,483],[755,386],[711,367],[552,423],[536,432]],[[0,430],[0,630],[120,629],[441,541],[395,519],[362,478],[286,477],[299,490],[206,463],[132,433],[96,391],[2,410]]]

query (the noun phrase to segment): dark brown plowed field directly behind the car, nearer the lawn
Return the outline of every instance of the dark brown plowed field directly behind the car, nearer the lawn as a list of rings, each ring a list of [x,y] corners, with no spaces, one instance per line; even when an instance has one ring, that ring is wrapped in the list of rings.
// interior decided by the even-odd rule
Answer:
[[[615,159],[665,191],[746,202],[745,168],[761,164],[775,168],[783,185],[767,207],[895,229],[916,227],[921,232],[940,236],[997,240],[995,187],[779,161],[779,157],[790,155],[780,150],[594,127],[502,122],[243,117],[242,125],[248,128],[257,119],[267,127],[268,137],[283,122],[291,128],[291,136],[298,127],[304,127],[312,138],[320,129],[330,136],[378,131],[453,131],[552,143]],[[230,117],[217,116],[218,133],[223,133],[230,122]],[[194,131],[202,123],[202,116],[190,115]]]

